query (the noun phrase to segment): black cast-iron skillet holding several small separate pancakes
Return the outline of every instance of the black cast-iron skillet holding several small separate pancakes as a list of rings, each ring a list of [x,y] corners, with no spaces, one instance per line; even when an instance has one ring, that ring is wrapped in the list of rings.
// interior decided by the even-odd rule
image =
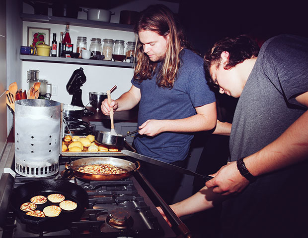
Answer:
[[[31,197],[36,195],[48,196],[52,193],[60,193],[65,196],[65,200],[77,202],[77,208],[73,211],[62,209],[58,217],[33,217],[26,215],[26,212],[20,210],[20,205],[24,202],[30,202]],[[14,188],[9,196],[9,204],[22,223],[31,225],[39,231],[63,230],[71,222],[79,220],[85,208],[88,206],[88,194],[77,184],[59,179],[42,179],[27,182]],[[35,210],[43,211],[44,207],[49,205],[58,205],[49,200],[44,204],[37,204]]]

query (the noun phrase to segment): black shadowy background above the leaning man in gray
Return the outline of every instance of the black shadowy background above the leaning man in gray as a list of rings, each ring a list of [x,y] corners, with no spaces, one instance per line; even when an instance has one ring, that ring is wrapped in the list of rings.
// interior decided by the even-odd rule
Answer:
[[[305,1],[179,0],[179,19],[188,40],[206,52],[227,36],[248,34],[262,42],[279,34],[308,37]]]

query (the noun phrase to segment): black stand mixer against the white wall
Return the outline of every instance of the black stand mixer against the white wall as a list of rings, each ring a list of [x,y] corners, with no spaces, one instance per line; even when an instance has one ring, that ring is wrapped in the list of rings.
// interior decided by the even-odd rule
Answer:
[[[81,99],[82,90],[80,88],[85,83],[85,81],[86,81],[86,77],[83,73],[83,68],[80,67],[79,69],[76,69],[73,72],[69,82],[66,85],[66,89],[68,93],[70,95],[73,95],[72,102],[71,102],[72,105],[84,107],[82,103],[82,99]],[[83,115],[88,116],[92,114],[93,112],[84,108]]]

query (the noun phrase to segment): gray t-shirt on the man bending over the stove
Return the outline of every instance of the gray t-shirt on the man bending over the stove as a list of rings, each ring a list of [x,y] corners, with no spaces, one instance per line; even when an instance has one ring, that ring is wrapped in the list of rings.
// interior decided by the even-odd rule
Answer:
[[[266,41],[236,106],[231,161],[276,140],[306,112],[295,97],[307,91],[308,39],[280,35]],[[303,162],[260,176],[226,200],[222,237],[303,237],[308,232],[300,218],[308,212],[307,171]]]

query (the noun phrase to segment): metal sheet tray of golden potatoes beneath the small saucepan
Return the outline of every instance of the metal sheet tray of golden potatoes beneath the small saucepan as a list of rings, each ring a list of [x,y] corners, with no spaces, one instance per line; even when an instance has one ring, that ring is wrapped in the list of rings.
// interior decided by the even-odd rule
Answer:
[[[116,147],[96,143],[93,135],[70,136],[66,135],[62,139],[62,156],[80,157],[80,156],[123,156],[121,150],[136,150],[124,140],[124,147]]]

